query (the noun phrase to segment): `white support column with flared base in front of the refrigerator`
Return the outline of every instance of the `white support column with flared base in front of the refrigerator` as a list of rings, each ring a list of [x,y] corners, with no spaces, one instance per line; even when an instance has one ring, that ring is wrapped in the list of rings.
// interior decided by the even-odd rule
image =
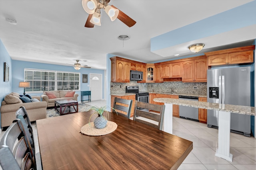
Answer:
[[[230,154],[230,112],[219,111],[218,149],[215,156],[232,162]]]

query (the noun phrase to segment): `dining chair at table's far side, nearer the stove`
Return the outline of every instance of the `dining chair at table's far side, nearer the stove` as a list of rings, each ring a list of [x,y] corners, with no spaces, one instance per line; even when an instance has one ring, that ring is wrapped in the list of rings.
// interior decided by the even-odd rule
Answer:
[[[132,100],[116,98],[114,99],[113,108],[116,110],[118,115],[130,118],[132,110]],[[116,113],[112,110],[112,113]],[[121,112],[122,111],[122,112]],[[125,112],[125,113],[124,113]]]

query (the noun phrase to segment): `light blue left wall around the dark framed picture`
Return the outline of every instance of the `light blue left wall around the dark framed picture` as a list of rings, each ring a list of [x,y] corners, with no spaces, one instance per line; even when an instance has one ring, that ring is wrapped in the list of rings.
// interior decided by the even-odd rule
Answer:
[[[9,65],[9,82],[4,82],[4,63]],[[10,92],[12,92],[12,59],[0,39],[0,102]]]

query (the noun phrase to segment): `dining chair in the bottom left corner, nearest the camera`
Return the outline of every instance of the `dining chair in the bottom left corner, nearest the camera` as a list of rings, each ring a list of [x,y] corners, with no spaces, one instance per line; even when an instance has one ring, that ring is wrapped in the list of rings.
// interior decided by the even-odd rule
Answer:
[[[0,165],[3,170],[36,169],[31,145],[15,119],[0,141]]]

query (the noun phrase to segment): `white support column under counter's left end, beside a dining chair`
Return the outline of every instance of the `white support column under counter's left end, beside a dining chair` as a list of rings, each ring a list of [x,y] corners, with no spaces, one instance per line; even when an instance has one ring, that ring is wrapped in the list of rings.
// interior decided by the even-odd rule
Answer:
[[[172,134],[172,104],[165,103],[164,105],[165,110],[162,131]]]

